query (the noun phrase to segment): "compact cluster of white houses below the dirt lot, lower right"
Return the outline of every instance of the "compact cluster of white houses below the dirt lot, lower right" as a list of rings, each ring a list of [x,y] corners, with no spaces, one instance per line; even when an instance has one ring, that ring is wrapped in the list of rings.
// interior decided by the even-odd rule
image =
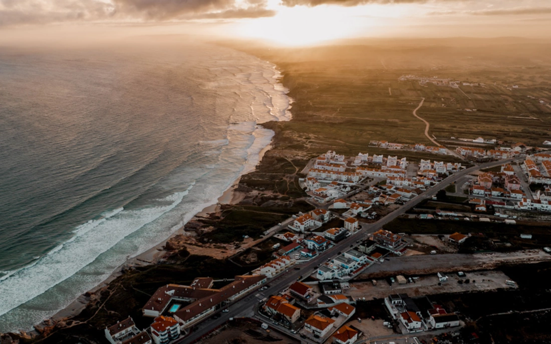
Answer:
[[[457,314],[447,313],[426,296],[412,298],[407,294],[391,294],[385,298],[385,305],[392,318],[402,324],[405,333],[460,325]]]

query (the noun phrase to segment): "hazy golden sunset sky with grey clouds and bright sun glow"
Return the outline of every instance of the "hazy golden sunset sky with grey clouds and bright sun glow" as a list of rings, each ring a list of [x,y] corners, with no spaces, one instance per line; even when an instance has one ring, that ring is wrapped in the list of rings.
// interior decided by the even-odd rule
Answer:
[[[0,0],[0,41],[174,33],[300,45],[343,37],[546,37],[549,28],[551,0]]]

